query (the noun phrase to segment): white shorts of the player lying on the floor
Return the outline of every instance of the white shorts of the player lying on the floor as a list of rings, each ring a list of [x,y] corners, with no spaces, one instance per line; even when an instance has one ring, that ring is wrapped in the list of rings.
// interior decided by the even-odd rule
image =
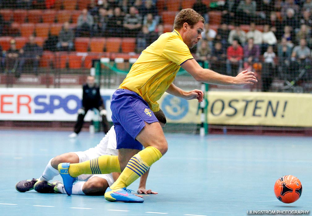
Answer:
[[[98,151],[96,151],[94,148],[89,148],[88,150],[85,150],[84,152],[73,152],[73,153],[78,155],[80,163],[101,156],[101,154],[98,153]],[[78,180],[88,181],[89,179],[93,177],[100,177],[100,178],[106,179],[106,181],[108,182],[108,185],[110,186],[114,183],[114,179],[111,173],[110,174],[97,174],[97,175],[82,174],[78,176]]]

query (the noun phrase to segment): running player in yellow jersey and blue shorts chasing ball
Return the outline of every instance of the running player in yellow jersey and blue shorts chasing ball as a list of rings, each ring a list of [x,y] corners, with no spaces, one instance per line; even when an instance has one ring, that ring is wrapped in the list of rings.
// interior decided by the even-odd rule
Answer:
[[[164,92],[188,100],[203,100],[202,91],[186,92],[173,85],[180,67],[199,82],[223,85],[252,85],[257,82],[254,73],[247,70],[230,77],[199,66],[189,48],[202,38],[204,18],[193,9],[181,10],[175,17],[173,27],[173,32],[161,35],[142,52],[112,96],[110,108],[118,157],[104,155],[92,162],[59,164],[58,170],[68,195],[80,174],[122,171],[117,181],[106,190],[105,199],[134,203],[144,201],[142,197],[131,194],[126,187],[148,171],[168,150],[163,130],[151,110],[158,111],[157,100]],[[136,153],[138,150],[141,151]]]

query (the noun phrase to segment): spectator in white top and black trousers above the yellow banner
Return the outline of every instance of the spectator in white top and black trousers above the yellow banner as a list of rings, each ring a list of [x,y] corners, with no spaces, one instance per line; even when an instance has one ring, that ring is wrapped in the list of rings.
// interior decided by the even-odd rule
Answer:
[[[275,53],[273,52],[273,47],[268,46],[268,49],[263,54],[264,61],[262,63],[262,91],[267,92],[273,81],[275,75]]]

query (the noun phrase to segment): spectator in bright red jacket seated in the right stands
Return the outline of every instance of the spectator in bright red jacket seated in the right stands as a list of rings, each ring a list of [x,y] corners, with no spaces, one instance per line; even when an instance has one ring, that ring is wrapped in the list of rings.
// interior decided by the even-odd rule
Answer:
[[[238,44],[238,40],[234,39],[232,45],[227,48],[227,75],[235,76],[238,71],[241,71],[243,56],[243,48]],[[235,68],[234,73],[233,68]]]

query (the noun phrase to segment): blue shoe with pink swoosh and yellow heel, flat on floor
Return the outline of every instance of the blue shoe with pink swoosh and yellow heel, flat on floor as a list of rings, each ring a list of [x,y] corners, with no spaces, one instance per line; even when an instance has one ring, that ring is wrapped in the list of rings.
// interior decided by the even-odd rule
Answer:
[[[110,202],[125,202],[125,203],[143,203],[144,200],[136,195],[131,194],[133,190],[127,190],[124,188],[110,189],[108,187],[105,191],[105,200]]]

